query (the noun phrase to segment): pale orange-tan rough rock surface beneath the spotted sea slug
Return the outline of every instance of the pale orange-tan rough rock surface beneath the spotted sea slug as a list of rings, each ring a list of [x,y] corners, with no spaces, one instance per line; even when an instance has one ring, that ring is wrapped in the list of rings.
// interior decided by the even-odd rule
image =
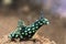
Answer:
[[[42,42],[41,42],[42,41]],[[56,44],[54,41],[50,41],[50,38],[43,38],[40,41],[10,41],[8,38],[8,35],[4,35],[2,38],[0,38],[0,44]]]

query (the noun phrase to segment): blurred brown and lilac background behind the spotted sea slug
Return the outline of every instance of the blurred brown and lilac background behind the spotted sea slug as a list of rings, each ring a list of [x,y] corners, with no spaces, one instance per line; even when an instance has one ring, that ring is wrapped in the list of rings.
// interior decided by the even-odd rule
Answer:
[[[22,19],[26,25],[40,18],[43,4],[43,16],[50,20],[50,25],[43,25],[37,34],[48,37],[57,44],[66,44],[66,0],[32,0],[21,2],[16,0],[11,6],[0,1],[0,37],[15,30],[18,21]],[[28,3],[26,3],[28,2]],[[33,3],[32,3],[33,2]],[[42,3],[42,4],[41,4]]]

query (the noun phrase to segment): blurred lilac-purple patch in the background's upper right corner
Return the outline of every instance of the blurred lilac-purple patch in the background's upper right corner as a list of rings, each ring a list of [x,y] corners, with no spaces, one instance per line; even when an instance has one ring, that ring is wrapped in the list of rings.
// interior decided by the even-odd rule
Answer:
[[[48,0],[43,0],[44,7],[48,3]],[[51,0],[50,11],[52,13],[59,13],[66,15],[66,0]]]

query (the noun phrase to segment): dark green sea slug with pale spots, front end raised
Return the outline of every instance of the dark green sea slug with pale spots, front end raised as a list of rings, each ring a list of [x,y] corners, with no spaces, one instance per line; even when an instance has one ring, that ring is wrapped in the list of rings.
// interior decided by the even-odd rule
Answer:
[[[35,32],[43,25],[48,24],[48,20],[45,18],[41,18],[40,20],[36,20],[34,23],[25,26],[23,25],[23,22],[19,23],[19,26],[14,32],[12,32],[9,37],[11,40],[20,38],[20,40],[29,40],[31,38]]]

